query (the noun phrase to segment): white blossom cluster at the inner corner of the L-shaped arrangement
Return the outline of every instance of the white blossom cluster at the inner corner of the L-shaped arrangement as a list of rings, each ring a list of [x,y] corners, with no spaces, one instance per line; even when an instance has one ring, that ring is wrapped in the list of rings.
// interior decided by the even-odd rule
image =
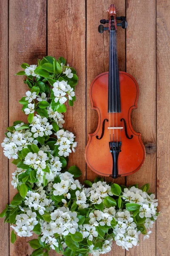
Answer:
[[[64,195],[66,198],[70,199],[71,194],[69,193],[69,189],[75,190],[77,188],[81,189],[81,184],[79,180],[74,180],[74,175],[69,172],[64,172],[59,175],[60,182],[54,183],[53,194],[54,195]],[[65,202],[65,201],[64,201]]]

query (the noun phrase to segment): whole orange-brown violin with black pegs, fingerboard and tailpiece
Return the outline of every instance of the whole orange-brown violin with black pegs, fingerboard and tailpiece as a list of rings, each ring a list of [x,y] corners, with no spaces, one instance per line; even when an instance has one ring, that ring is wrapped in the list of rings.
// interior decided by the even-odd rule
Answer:
[[[130,74],[119,71],[116,30],[127,27],[124,16],[116,17],[114,4],[108,9],[109,20],[100,20],[99,33],[109,31],[109,71],[97,76],[90,86],[92,109],[98,113],[96,131],[89,134],[85,160],[99,175],[117,178],[130,175],[142,166],[145,148],[141,134],[133,130],[132,109],[137,108],[139,87]],[[117,23],[117,20],[121,20]],[[108,27],[102,24],[108,23]]]

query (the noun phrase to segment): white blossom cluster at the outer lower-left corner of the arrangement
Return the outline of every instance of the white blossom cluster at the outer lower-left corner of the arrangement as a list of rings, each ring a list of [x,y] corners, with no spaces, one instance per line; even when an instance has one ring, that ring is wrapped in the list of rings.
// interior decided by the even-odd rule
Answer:
[[[22,208],[21,208],[22,209]],[[16,226],[11,226],[18,236],[32,236],[31,230],[38,224],[36,212],[32,212],[29,208],[26,213],[21,213],[16,216]]]

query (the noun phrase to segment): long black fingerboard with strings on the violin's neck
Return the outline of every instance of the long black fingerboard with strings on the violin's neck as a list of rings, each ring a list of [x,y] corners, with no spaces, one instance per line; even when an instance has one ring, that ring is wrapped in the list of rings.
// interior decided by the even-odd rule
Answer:
[[[117,59],[116,30],[110,30],[108,113],[120,113],[119,69]]]

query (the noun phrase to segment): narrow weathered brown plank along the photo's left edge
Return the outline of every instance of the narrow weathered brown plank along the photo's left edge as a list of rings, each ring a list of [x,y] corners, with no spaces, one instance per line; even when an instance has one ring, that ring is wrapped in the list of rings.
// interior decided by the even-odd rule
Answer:
[[[8,127],[8,1],[0,1],[0,142]],[[8,159],[0,151],[0,212],[8,204]],[[9,225],[0,219],[0,255],[9,253]]]

